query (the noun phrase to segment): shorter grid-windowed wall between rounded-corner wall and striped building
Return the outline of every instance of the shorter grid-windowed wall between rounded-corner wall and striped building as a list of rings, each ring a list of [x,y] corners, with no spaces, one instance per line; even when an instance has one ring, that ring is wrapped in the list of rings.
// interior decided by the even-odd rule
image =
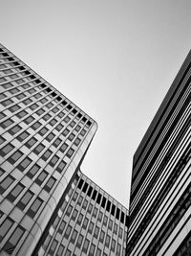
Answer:
[[[80,172],[38,255],[125,255],[127,210]]]

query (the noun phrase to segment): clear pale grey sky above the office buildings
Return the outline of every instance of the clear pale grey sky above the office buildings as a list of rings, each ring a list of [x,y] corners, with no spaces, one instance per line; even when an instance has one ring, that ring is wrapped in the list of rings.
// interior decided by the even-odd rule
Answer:
[[[0,0],[1,43],[98,124],[81,170],[128,207],[132,160],[191,47],[189,0]]]

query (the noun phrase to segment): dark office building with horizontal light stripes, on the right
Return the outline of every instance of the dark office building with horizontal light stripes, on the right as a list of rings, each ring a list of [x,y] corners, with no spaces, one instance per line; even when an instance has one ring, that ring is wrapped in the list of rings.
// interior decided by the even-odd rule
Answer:
[[[128,255],[190,255],[191,52],[134,155]]]

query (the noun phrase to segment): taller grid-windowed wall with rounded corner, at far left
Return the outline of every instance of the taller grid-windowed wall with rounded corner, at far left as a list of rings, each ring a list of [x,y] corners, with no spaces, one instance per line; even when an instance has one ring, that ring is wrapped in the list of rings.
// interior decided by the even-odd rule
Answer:
[[[0,121],[0,247],[30,255],[96,122],[2,45]]]

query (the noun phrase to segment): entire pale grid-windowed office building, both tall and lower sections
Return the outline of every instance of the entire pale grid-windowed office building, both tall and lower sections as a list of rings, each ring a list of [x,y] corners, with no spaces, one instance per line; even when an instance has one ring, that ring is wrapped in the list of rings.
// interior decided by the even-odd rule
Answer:
[[[79,171],[96,128],[0,45],[0,255],[124,255],[126,209]]]

